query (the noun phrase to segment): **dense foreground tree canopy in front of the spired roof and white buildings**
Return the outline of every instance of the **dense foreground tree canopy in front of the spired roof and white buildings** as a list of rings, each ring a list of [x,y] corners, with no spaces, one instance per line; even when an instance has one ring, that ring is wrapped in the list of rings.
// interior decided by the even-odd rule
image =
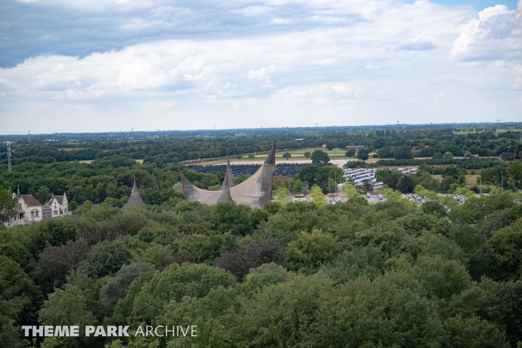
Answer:
[[[430,203],[85,204],[3,229],[0,342],[25,346],[21,326],[42,324],[130,336],[31,345],[516,347],[522,205],[509,191],[449,216]],[[197,337],[135,336],[140,325]]]

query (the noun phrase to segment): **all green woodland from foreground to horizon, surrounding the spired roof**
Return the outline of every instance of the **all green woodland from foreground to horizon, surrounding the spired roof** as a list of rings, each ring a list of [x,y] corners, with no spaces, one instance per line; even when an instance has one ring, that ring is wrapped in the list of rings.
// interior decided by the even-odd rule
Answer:
[[[471,140],[469,134],[431,129],[439,143],[425,147],[420,140],[428,133],[421,131],[426,132],[345,132],[336,138],[338,132],[329,130],[330,137],[325,131],[306,146],[328,138],[336,146],[370,142],[375,150],[373,142],[385,139],[380,148],[396,152],[408,146],[413,157],[412,145],[419,142],[416,146],[433,146],[444,157],[450,150],[444,146],[469,151],[482,146],[480,134],[486,133],[473,133]],[[520,146],[501,134],[492,133],[495,140],[487,142],[492,150],[502,143]],[[466,141],[457,144],[461,137]],[[510,140],[501,141],[504,137]],[[287,140],[290,148],[301,142]],[[194,143],[195,149],[210,141],[166,139],[139,146]],[[227,150],[235,142],[240,148],[273,140],[226,141],[221,144]],[[281,135],[278,143],[283,141]],[[20,144],[16,152],[45,146]],[[1,347],[522,346],[522,197],[514,193],[522,187],[519,161],[433,158],[419,162],[411,175],[385,168],[376,176],[385,181],[381,193],[388,200],[378,204],[361,195],[363,187],[358,192],[349,183],[346,203],[327,204],[323,193],[332,191],[332,182],[335,189],[342,170],[310,165],[294,178],[275,178],[277,200],[253,210],[185,202],[174,161],[138,164],[132,152],[118,153],[121,149],[98,149],[104,155],[90,164],[33,152],[17,157],[11,172],[0,165],[0,217],[16,188],[40,202],[66,192],[73,210],[71,216],[26,226],[0,224]],[[411,157],[394,160],[417,160]],[[482,189],[489,196],[466,188],[467,176],[478,174],[475,168],[482,168]],[[184,172],[204,189],[219,188],[224,179],[223,173]],[[146,204],[123,211],[134,176]],[[286,188],[302,183],[317,185],[312,202],[286,202]],[[400,192],[428,201],[418,205]],[[25,337],[25,326],[80,331],[77,337],[33,338]],[[128,326],[129,337],[105,332],[86,337],[86,326]],[[159,326],[163,329],[146,337],[137,331]],[[197,335],[166,336],[164,326],[194,326]]]

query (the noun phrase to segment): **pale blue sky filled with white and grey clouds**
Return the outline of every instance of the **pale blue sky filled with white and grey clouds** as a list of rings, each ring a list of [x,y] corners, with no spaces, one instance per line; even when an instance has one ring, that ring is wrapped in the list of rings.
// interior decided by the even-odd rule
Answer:
[[[522,120],[522,0],[2,0],[0,134]]]

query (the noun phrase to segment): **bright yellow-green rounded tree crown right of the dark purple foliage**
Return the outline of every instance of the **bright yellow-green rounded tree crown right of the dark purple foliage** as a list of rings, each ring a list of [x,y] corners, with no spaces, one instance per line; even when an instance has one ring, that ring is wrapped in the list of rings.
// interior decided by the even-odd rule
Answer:
[[[310,274],[333,261],[341,251],[342,242],[337,237],[314,229],[311,233],[301,232],[298,240],[288,244],[287,253],[292,270]]]

